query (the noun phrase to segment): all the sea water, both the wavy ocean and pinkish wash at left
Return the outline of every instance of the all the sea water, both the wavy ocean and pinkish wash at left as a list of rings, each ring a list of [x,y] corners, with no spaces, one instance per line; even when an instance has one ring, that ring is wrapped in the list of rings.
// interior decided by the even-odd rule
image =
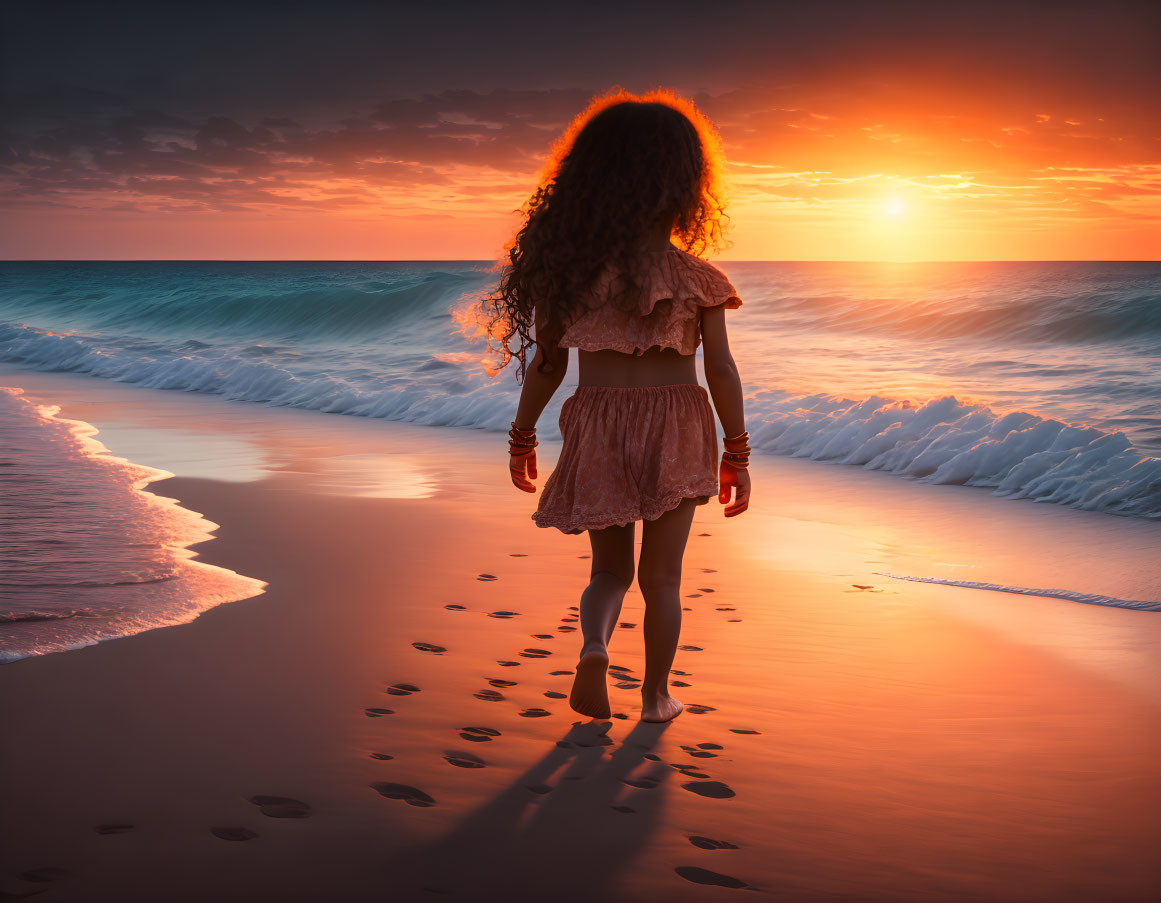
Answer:
[[[759,454],[1161,519],[1161,263],[719,266]],[[515,367],[489,376],[455,316],[493,281],[478,261],[2,262],[0,362],[503,432]],[[543,439],[575,384],[574,357]],[[164,472],[94,446],[0,391],[0,660],[260,592],[189,561],[215,525],[139,498]]]

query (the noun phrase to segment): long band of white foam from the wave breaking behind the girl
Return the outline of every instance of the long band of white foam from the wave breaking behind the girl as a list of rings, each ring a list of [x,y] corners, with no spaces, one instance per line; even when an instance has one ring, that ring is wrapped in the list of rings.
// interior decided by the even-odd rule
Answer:
[[[392,362],[378,370],[360,356],[366,351],[327,354],[336,353],[272,352],[261,360],[223,347],[143,353],[85,337],[0,326],[0,360],[327,413],[506,431],[519,397],[510,370],[489,380],[471,354],[441,360],[439,368],[419,367],[412,355],[410,366]],[[560,438],[557,414],[568,393],[564,387],[546,409],[542,438]],[[983,486],[1008,498],[1161,518],[1161,458],[1133,448],[1119,432],[1025,411],[998,413],[954,396],[913,404],[760,389],[747,396],[747,411],[751,446],[758,452],[925,483]]]

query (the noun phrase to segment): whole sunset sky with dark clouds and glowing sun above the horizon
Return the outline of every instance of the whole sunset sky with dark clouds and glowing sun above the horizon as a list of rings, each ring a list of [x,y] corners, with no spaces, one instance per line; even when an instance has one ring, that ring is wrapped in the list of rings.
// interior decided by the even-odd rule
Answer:
[[[0,0],[3,259],[495,259],[666,87],[721,260],[1161,258],[1161,5]]]

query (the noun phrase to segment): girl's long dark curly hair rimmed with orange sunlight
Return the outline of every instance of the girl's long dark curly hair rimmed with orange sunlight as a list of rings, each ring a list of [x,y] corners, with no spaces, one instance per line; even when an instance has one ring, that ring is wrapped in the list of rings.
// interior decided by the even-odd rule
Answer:
[[[489,351],[495,340],[500,357],[489,374],[515,357],[522,382],[533,346],[542,352],[538,370],[553,371],[557,340],[606,267],[618,274],[607,303],[632,310],[642,252],[658,227],[671,223],[671,240],[697,257],[720,251],[723,168],[714,127],[673,92],[594,97],[553,146],[505,247],[499,284],[483,298]]]

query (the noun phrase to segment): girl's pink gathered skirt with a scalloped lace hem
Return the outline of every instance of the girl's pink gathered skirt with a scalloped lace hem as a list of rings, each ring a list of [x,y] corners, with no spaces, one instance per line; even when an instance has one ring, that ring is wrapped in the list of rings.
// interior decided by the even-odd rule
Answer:
[[[582,533],[655,520],[717,494],[717,433],[700,385],[580,385],[561,407],[564,447],[532,519]]]

